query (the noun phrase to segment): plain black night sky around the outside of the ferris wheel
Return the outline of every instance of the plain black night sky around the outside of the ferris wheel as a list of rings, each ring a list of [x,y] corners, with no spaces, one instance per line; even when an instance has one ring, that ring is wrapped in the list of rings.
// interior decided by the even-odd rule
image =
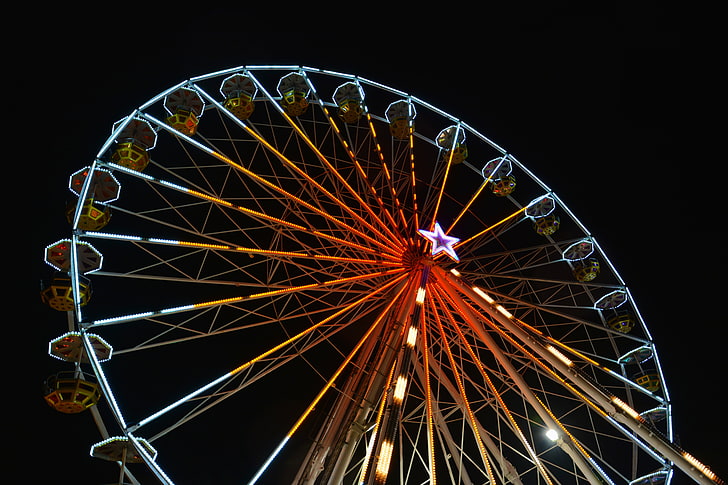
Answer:
[[[46,343],[65,321],[35,295],[47,274],[43,248],[66,236],[57,213],[68,175],[91,161],[116,120],[151,96],[246,64],[358,74],[424,99],[510,150],[595,233],[656,341],[680,443],[728,477],[720,397],[728,325],[724,157],[709,150],[699,128],[711,96],[701,80],[709,73],[698,60],[702,46],[686,29],[701,14],[643,5],[549,2],[425,12],[421,19],[363,5],[150,15],[130,9],[83,21],[81,12],[69,11],[34,22],[23,17],[27,29],[10,39],[16,69],[5,75],[6,96],[23,123],[5,135],[6,143],[17,132],[26,141],[20,157],[6,156],[5,163],[20,169],[15,180],[26,182],[21,192],[34,210],[20,218],[31,233],[24,244],[31,277],[22,285],[31,318],[8,327],[32,328],[31,352],[22,345],[11,361],[32,369],[30,377],[21,373],[20,407],[30,413],[25,420],[7,416],[21,468],[33,475],[24,482],[95,466],[88,458],[97,441],[90,418],[57,415],[40,395],[52,368]],[[15,339],[25,341],[20,335],[26,333]]]

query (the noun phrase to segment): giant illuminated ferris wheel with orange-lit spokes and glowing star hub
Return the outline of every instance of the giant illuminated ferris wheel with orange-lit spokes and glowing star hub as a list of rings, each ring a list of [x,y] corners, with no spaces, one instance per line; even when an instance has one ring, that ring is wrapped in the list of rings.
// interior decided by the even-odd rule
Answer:
[[[597,240],[466,122],[246,66],[110,130],[41,296],[119,483],[724,483]]]

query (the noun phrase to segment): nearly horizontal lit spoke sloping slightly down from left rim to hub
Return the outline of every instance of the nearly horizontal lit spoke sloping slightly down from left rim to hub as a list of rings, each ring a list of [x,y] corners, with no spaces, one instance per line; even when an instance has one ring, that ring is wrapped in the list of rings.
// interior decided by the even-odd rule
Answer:
[[[311,254],[301,251],[273,251],[269,249],[258,249],[258,248],[249,248],[249,247],[243,247],[243,246],[235,246],[230,244],[209,244],[209,243],[197,243],[192,241],[179,241],[179,240],[173,240],[173,239],[161,239],[156,237],[141,237],[141,236],[133,236],[128,234],[113,234],[113,233],[103,233],[103,232],[95,232],[95,231],[85,231],[80,233],[83,236],[90,237],[90,238],[98,238],[98,239],[113,239],[116,241],[131,241],[136,243],[148,243],[148,244],[158,244],[163,246],[179,246],[179,247],[186,247],[186,248],[196,248],[196,249],[211,249],[215,251],[231,251],[236,253],[243,253],[243,254],[257,254],[262,256],[268,256],[271,258],[279,258],[279,259],[295,259],[295,258],[303,258],[303,259],[316,259],[316,260],[322,260],[322,261],[334,261],[339,263],[362,263],[362,264],[371,264],[374,266],[398,266],[400,265],[397,261],[383,261],[383,260],[376,260],[376,259],[362,259],[362,258],[347,258],[344,256],[327,256],[323,254]]]

